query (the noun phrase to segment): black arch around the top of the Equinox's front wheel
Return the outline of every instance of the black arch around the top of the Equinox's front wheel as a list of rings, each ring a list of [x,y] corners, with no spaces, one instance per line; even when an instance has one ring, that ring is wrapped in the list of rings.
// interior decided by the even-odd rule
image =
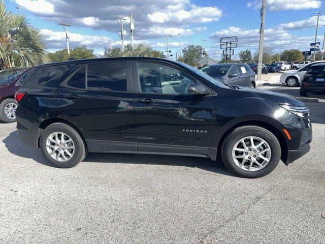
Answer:
[[[222,145],[223,140],[226,138],[226,136],[228,136],[234,129],[236,129],[238,127],[242,127],[242,126],[259,126],[259,127],[263,127],[265,129],[267,129],[272,134],[274,134],[275,137],[279,140],[279,143],[280,143],[281,160],[284,163],[287,161],[288,146],[287,146],[287,142],[286,142],[286,139],[285,139],[283,133],[276,126],[274,126],[273,123],[270,123],[270,121],[255,120],[255,119],[241,121],[241,122],[238,122],[238,123],[236,123],[234,125],[231,125],[229,128],[227,128],[223,132],[222,136],[220,137],[220,139],[217,142],[217,155],[221,154],[221,151],[220,151],[221,150],[221,145]]]

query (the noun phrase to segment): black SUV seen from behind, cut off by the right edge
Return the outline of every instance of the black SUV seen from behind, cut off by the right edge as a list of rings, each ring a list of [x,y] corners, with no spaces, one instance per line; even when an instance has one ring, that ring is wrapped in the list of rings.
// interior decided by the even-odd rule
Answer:
[[[325,65],[324,63],[310,66],[300,85],[300,96],[307,93],[325,94]]]

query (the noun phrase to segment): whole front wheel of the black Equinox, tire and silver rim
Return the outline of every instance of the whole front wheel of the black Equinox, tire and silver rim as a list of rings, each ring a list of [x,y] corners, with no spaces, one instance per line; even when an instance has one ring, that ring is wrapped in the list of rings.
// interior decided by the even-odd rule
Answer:
[[[270,131],[257,126],[243,126],[224,139],[221,154],[230,171],[242,177],[257,178],[276,168],[281,147]]]

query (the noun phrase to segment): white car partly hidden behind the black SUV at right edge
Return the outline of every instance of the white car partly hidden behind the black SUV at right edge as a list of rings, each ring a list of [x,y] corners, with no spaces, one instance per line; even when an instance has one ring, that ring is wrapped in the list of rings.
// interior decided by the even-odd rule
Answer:
[[[303,68],[300,68],[299,70],[290,70],[290,71],[283,72],[280,76],[280,83],[286,84],[287,86],[299,85],[301,83],[301,79],[303,78],[304,74],[306,74],[309,67],[319,63],[325,64],[325,60],[311,62],[308,65],[305,65]]]

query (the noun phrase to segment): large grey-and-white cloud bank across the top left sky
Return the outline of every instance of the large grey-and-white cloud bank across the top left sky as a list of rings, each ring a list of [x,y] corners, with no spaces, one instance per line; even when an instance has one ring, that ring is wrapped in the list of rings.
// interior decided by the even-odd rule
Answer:
[[[127,17],[132,13],[138,39],[165,35],[164,30],[168,28],[181,29],[182,34],[192,35],[194,31],[188,30],[194,30],[198,23],[218,21],[222,16],[222,11],[216,6],[194,5],[193,0],[12,1],[43,20],[64,21],[73,26],[105,29],[111,33],[119,32],[114,17]],[[125,21],[125,26],[128,21]]]

